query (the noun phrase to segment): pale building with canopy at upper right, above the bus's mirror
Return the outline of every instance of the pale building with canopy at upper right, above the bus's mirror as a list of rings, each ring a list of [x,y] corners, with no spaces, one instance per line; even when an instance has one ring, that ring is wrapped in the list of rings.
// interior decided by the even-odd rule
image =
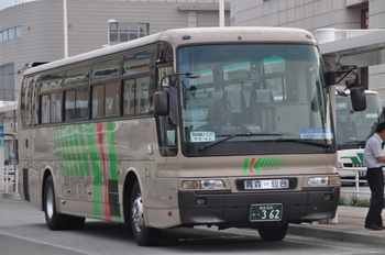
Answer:
[[[230,0],[231,25],[290,26],[310,31],[333,27],[333,42],[320,42],[331,69],[358,67],[365,89],[385,99],[384,0]],[[365,34],[345,30],[367,30]]]

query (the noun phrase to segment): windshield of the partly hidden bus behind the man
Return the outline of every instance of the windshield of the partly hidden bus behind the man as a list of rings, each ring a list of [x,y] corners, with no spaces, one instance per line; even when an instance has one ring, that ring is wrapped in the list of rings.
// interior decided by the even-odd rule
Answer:
[[[377,93],[366,92],[366,110],[353,111],[350,95],[336,96],[337,144],[339,149],[364,147],[380,122],[384,122],[383,108]]]

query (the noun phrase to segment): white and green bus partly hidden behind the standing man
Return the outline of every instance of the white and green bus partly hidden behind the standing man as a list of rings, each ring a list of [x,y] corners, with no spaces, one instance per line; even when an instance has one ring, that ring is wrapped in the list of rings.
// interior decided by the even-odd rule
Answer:
[[[365,99],[366,109],[354,111],[350,91],[336,92],[337,167],[341,178],[366,179],[366,167],[362,165],[365,143],[377,124],[385,122],[378,92],[365,90]]]

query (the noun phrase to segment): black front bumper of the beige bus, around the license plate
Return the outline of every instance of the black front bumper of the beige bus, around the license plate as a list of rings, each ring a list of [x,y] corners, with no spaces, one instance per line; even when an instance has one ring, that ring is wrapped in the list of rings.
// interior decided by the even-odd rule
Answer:
[[[253,228],[271,221],[251,221],[252,204],[282,204],[283,222],[312,222],[336,217],[340,188],[292,192],[195,192],[179,191],[183,225],[215,224],[219,228]],[[200,202],[198,202],[200,201]],[[205,201],[205,204],[199,204]]]

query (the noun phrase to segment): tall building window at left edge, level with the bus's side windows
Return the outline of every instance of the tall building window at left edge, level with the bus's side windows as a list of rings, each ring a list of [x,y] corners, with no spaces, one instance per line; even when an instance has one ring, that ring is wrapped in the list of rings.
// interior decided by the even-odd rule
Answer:
[[[14,101],[14,65],[0,66],[0,100]]]

